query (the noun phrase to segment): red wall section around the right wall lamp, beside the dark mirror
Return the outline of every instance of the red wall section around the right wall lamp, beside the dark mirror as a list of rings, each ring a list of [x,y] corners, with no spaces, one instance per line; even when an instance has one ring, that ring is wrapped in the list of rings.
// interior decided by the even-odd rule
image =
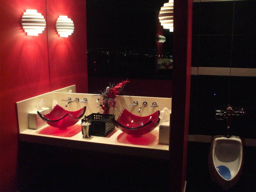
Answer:
[[[76,92],[88,92],[85,1],[47,1],[47,25],[51,91],[76,84]],[[55,24],[60,15],[73,20],[71,36],[59,37]]]

